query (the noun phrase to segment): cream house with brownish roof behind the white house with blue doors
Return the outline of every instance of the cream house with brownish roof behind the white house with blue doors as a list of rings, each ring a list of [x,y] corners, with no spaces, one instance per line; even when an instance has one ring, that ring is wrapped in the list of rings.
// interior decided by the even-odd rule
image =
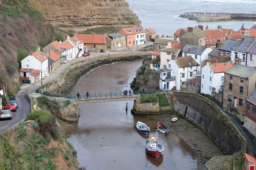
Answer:
[[[180,52],[180,49],[172,48],[171,46],[166,46],[160,52],[160,68],[167,68],[167,63],[170,60],[175,60]]]

